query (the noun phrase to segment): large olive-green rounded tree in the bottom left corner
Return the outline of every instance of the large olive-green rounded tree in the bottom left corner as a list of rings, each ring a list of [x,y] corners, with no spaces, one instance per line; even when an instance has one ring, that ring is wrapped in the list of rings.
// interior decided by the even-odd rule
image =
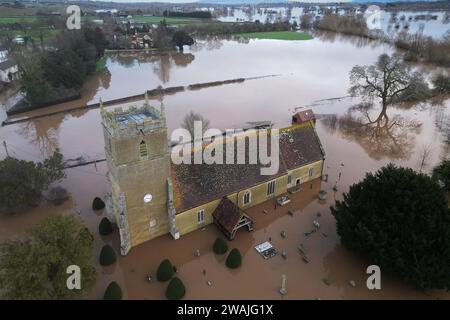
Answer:
[[[0,300],[83,298],[95,285],[93,250],[94,237],[73,214],[51,214],[20,239],[2,240]],[[82,270],[80,290],[67,290],[70,265]]]

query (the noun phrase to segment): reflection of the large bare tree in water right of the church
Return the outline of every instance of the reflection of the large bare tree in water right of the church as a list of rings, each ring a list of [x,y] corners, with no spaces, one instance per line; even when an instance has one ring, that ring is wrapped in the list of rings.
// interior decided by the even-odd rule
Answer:
[[[386,110],[373,117],[371,109],[372,105],[360,104],[342,116],[324,115],[321,122],[331,133],[357,142],[372,159],[408,159],[414,149],[413,133],[420,133],[422,124],[399,114],[390,116]]]

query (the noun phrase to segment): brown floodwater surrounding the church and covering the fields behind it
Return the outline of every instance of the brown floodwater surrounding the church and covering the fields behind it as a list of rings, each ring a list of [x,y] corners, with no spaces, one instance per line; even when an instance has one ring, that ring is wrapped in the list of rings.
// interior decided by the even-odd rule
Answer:
[[[450,298],[443,291],[419,292],[384,274],[382,290],[369,291],[365,286],[368,263],[339,244],[330,215],[329,206],[334,200],[341,198],[342,192],[367,171],[394,162],[429,172],[440,159],[449,156],[450,100],[434,105],[392,106],[386,115],[378,117],[377,104],[364,108],[358,100],[346,97],[350,69],[355,64],[371,64],[384,52],[391,53],[391,47],[357,38],[323,35],[298,42],[203,41],[184,54],[111,55],[108,72],[90,79],[81,101],[57,108],[97,102],[100,97],[109,100],[135,95],[158,85],[277,74],[277,77],[240,84],[185,91],[152,102],[164,103],[169,132],[178,128],[191,110],[209,119],[211,127],[226,129],[258,120],[270,120],[276,127],[287,126],[296,107],[310,106],[319,117],[317,132],[326,152],[324,173],[329,179],[306,185],[289,205],[276,211],[272,202],[251,208],[248,213],[257,221],[255,230],[240,230],[230,242],[244,256],[238,270],[227,269],[224,257],[212,253],[212,243],[219,231],[211,225],[178,241],[162,236],[147,242],[133,248],[113,267],[97,265],[98,282],[89,298],[101,298],[109,281],[114,279],[121,284],[127,298],[163,299],[166,284],[149,283],[146,276],[155,273],[164,258],[170,258],[178,267],[179,277],[187,288],[187,299]],[[418,67],[423,73],[433,72],[429,66]],[[334,97],[341,98],[328,99]],[[44,112],[48,109],[27,115]],[[377,118],[379,121],[375,121]],[[78,110],[8,125],[0,128],[0,137],[7,142],[10,154],[21,159],[42,160],[55,148],[66,159],[104,157],[99,110]],[[422,161],[425,153],[426,159]],[[0,157],[4,156],[5,151],[1,149]],[[58,211],[80,215],[97,235],[103,213],[93,212],[90,206],[95,196],[104,196],[106,192],[105,172],[105,163],[67,170],[61,185],[70,192],[70,200],[61,206],[43,203],[0,217],[0,239],[20,236],[26,228]],[[332,190],[335,185],[337,192]],[[329,193],[325,203],[317,200],[320,189]],[[268,214],[263,213],[264,209]],[[295,212],[293,216],[287,214],[289,209]],[[320,222],[320,232],[305,237],[303,233],[312,229],[314,219]],[[283,230],[287,232],[286,238],[280,236]],[[278,250],[287,252],[286,260],[280,255],[264,260],[257,254],[254,246],[269,237]],[[117,233],[110,237],[96,236],[95,241],[96,260],[104,243],[119,247]],[[308,264],[298,253],[300,243],[307,250]],[[194,255],[196,249],[200,250],[200,257]],[[285,297],[278,294],[282,274],[287,277]],[[329,286],[323,278],[329,280]],[[212,282],[211,287],[207,285],[208,280]],[[349,285],[350,280],[356,281],[356,288]]]

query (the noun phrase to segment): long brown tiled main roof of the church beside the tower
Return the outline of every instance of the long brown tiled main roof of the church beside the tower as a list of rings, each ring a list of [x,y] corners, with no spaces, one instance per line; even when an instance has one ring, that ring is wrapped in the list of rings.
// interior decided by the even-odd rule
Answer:
[[[269,138],[268,140],[270,141]],[[261,164],[248,164],[248,161],[247,164],[172,162],[174,206],[177,213],[273,180],[285,175],[288,170],[322,160],[325,156],[311,125],[280,129],[279,152],[279,168],[274,175],[262,175]]]

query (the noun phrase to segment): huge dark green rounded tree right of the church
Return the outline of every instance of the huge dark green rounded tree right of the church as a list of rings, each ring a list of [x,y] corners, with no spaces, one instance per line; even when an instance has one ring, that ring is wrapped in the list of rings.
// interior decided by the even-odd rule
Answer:
[[[450,288],[450,211],[431,177],[388,165],[331,212],[342,244],[370,264],[419,289]]]

